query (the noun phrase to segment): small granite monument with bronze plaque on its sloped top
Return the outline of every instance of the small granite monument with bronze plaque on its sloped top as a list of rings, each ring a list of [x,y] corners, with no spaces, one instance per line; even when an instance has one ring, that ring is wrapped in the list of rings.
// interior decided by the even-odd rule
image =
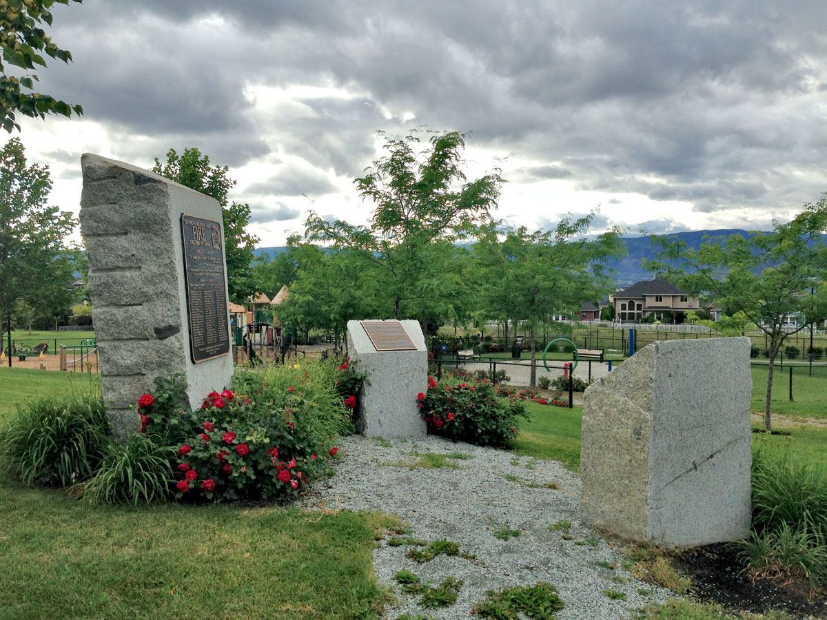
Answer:
[[[426,434],[417,394],[428,391],[428,350],[418,321],[348,321],[351,364],[367,373],[356,430],[366,436]]]

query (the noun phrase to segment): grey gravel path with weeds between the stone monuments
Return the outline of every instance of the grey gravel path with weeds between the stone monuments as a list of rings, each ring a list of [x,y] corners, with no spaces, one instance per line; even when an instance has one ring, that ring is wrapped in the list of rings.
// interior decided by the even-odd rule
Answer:
[[[405,466],[428,453],[468,458],[447,460],[457,469]],[[624,558],[581,525],[580,479],[557,461],[454,444],[436,436],[393,442],[351,436],[342,441],[340,455],[335,475],[310,490],[303,500],[305,508],[323,505],[395,514],[410,524],[412,537],[428,542],[447,538],[459,543],[466,555],[439,555],[420,564],[405,554],[422,547],[389,546],[385,537],[373,555],[380,584],[395,586],[394,574],[402,569],[435,584],[448,576],[465,582],[457,603],[437,609],[418,606],[418,596],[397,588],[398,604],[386,609],[386,618],[404,613],[411,618],[469,618],[474,604],[485,599],[485,590],[540,581],[557,587],[565,603],[557,616],[561,620],[629,618],[631,610],[669,594],[633,579],[620,567]],[[548,528],[566,520],[572,524],[570,540]],[[519,536],[496,537],[504,527],[519,530]],[[624,593],[627,600],[609,599],[606,589]]]

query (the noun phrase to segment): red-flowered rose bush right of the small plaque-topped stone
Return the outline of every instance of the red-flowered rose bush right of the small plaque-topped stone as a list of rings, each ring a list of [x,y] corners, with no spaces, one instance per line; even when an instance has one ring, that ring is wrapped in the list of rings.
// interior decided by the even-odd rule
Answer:
[[[418,407],[430,433],[478,446],[502,446],[517,436],[519,418],[528,418],[519,398],[497,398],[490,381],[429,380],[430,389],[420,393]]]

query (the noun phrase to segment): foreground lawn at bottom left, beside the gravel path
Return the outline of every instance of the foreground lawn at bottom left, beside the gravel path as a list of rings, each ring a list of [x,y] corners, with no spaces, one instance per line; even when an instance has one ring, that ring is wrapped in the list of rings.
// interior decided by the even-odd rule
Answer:
[[[88,506],[0,484],[0,619],[376,618],[374,527],[295,508]]]

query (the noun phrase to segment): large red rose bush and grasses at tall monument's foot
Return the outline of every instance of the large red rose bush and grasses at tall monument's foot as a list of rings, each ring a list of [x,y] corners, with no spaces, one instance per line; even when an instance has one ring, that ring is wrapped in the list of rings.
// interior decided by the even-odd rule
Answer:
[[[233,389],[209,393],[194,412],[167,416],[154,409],[160,397],[141,397],[141,426],[176,440],[178,498],[292,498],[327,471],[332,438],[352,428],[341,376],[329,360],[241,370]]]

